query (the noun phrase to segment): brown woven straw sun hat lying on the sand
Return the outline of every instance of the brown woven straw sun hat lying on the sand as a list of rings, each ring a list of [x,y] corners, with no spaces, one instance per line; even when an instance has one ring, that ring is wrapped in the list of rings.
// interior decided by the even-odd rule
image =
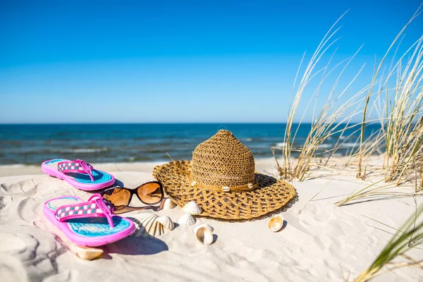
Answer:
[[[153,176],[180,207],[195,201],[203,210],[201,216],[219,219],[259,217],[297,195],[289,183],[255,173],[250,149],[228,130],[198,145],[192,161],[156,166]]]

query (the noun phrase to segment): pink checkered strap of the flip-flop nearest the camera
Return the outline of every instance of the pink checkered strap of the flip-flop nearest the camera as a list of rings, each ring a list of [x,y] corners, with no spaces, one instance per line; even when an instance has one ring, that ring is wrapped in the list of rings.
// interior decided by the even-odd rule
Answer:
[[[87,217],[106,217],[110,227],[114,227],[112,214],[113,204],[108,202],[102,195],[94,194],[87,202],[77,204],[63,204],[56,209],[56,219],[58,221],[66,221],[68,219],[82,219]]]

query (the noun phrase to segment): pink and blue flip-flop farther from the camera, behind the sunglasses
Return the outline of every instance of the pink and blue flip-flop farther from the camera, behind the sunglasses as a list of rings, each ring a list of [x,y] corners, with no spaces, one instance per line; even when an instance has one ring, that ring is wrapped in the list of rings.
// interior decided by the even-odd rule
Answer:
[[[104,171],[97,171],[81,159],[50,159],[44,161],[41,169],[49,176],[60,178],[80,190],[91,191],[114,184],[115,178]]]

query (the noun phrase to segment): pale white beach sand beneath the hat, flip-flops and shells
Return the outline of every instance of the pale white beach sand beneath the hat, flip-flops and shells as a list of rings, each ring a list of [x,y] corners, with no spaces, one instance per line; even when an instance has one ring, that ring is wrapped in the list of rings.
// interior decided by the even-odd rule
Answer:
[[[267,164],[269,171],[273,165]],[[148,171],[154,165],[150,166]],[[265,166],[259,170],[266,170]],[[0,281],[342,281],[343,275],[354,278],[366,269],[394,232],[364,216],[398,228],[415,211],[412,198],[336,207],[333,202],[364,183],[340,176],[318,178],[294,183],[299,200],[281,212],[286,227],[278,233],[267,229],[268,219],[228,223],[199,218],[197,224],[214,227],[213,245],[197,243],[192,227],[178,226],[159,238],[112,243],[104,247],[104,259],[88,262],[75,257],[43,228],[50,223],[42,215],[42,204],[59,195],[87,200],[90,194],[63,180],[11,176],[19,172],[10,171],[0,178]],[[114,176],[126,187],[152,179],[151,172],[117,171]],[[416,200],[421,204],[420,197]],[[177,207],[157,214],[177,221],[182,212]],[[421,259],[423,250],[410,255]],[[375,281],[422,279],[422,269],[403,268]]]

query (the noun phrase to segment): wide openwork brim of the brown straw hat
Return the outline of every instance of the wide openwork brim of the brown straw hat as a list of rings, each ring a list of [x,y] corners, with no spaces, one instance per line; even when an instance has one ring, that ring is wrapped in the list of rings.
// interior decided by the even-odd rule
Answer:
[[[156,166],[153,176],[166,194],[180,207],[195,201],[203,210],[200,216],[218,219],[253,219],[285,206],[297,195],[293,185],[271,176],[256,173],[255,190],[223,192],[190,184],[190,161],[171,161]]]

